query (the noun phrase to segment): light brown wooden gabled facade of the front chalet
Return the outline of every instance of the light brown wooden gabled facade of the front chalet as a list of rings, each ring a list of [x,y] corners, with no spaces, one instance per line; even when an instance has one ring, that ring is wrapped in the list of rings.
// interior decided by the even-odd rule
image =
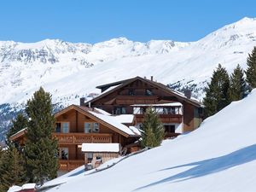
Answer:
[[[56,130],[53,137],[58,140],[59,170],[62,172],[84,165],[82,143],[119,143],[125,148],[139,138],[119,131],[102,119],[97,119],[88,112],[90,110],[93,111],[92,108],[72,105],[55,114]],[[86,125],[90,125],[89,132],[85,130]]]

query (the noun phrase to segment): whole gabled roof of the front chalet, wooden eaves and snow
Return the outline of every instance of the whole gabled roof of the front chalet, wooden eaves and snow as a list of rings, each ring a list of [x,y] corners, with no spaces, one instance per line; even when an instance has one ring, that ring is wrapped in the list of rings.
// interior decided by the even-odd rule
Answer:
[[[71,105],[67,108],[62,109],[60,112],[55,113],[55,118],[59,115],[66,113],[67,111],[75,109],[80,113],[95,119],[97,122],[102,123],[103,125],[108,126],[108,128],[113,131],[119,132],[119,134],[125,137],[139,137],[136,132],[132,131],[128,126],[121,124],[118,120],[114,119],[113,116],[108,113],[101,113],[103,110],[97,110],[96,108],[87,108],[84,106]]]

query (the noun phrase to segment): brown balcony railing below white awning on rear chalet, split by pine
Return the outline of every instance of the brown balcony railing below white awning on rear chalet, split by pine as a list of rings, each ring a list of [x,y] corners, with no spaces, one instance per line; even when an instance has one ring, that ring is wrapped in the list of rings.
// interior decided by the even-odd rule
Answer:
[[[144,114],[135,114],[137,123],[142,123]],[[162,123],[177,123],[180,124],[183,121],[182,114],[159,114]]]

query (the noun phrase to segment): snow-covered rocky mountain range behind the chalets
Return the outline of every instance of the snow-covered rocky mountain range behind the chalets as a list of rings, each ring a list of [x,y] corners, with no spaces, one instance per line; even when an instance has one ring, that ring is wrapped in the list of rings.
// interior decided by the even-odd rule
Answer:
[[[72,44],[46,39],[24,44],[0,42],[1,103],[26,102],[44,86],[54,102],[78,103],[98,84],[135,76],[178,86],[193,86],[198,96],[218,63],[229,72],[256,45],[256,19],[243,18],[196,42],[133,42],[113,38],[98,44]]]

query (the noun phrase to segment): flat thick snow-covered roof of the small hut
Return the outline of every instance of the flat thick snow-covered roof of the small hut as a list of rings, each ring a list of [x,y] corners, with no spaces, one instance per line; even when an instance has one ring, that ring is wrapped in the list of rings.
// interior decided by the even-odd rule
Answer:
[[[119,143],[83,143],[83,152],[119,152]]]

